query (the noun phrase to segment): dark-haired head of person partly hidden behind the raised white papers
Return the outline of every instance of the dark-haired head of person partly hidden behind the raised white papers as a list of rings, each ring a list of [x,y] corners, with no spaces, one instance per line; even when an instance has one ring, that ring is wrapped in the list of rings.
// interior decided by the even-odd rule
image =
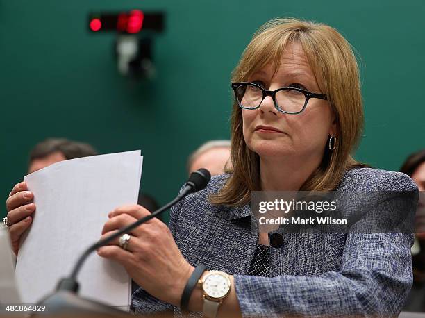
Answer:
[[[90,144],[65,138],[48,138],[36,144],[31,150],[28,173],[31,174],[55,162],[95,155],[97,151]]]

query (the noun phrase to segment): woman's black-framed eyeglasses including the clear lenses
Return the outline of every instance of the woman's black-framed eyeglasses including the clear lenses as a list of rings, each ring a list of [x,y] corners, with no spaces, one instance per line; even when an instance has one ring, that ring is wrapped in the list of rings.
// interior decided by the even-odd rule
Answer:
[[[324,94],[312,93],[296,87],[265,90],[260,85],[243,82],[232,83],[232,88],[235,91],[235,99],[238,101],[240,108],[259,108],[263,100],[267,96],[271,96],[276,109],[285,114],[299,114],[306,109],[310,99],[328,99]]]

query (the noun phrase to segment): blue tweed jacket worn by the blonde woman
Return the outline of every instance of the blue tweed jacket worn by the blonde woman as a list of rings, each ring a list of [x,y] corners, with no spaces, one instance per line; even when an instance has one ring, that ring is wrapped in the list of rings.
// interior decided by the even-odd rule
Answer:
[[[234,275],[244,317],[388,316],[401,310],[412,284],[411,234],[283,233],[283,246],[270,248],[270,277],[249,276],[258,243],[258,234],[250,231],[250,206],[208,203],[226,178],[213,177],[205,190],[175,206],[169,228],[190,264]],[[361,168],[347,171],[338,190],[417,187],[405,174]],[[136,313],[174,309],[180,314],[141,288],[133,294],[132,306]]]

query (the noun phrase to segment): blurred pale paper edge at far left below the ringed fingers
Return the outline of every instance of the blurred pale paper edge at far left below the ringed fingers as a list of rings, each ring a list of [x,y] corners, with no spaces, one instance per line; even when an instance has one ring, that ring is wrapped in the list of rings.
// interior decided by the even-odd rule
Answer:
[[[15,260],[10,246],[9,232],[0,226],[0,303],[19,304],[21,299],[15,281]]]

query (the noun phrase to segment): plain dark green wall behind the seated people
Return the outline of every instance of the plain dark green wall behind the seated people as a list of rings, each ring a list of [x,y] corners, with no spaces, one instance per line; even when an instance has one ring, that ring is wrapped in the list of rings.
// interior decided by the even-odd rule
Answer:
[[[151,81],[119,76],[114,35],[87,31],[88,12],[132,8],[167,15]],[[423,0],[0,0],[0,197],[22,180],[28,150],[56,136],[101,153],[142,149],[142,189],[165,203],[185,181],[188,153],[228,137],[231,71],[256,28],[278,16],[330,24],[359,52],[359,160],[394,170],[424,147]]]

